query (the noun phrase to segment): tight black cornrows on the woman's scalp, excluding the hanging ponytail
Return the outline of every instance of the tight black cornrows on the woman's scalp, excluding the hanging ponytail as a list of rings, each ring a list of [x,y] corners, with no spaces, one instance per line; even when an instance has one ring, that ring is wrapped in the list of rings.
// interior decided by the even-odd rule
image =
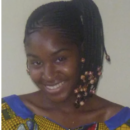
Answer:
[[[72,2],[52,2],[34,10],[26,24],[24,43],[28,35],[44,27],[58,30],[77,45],[83,41],[79,11]]]

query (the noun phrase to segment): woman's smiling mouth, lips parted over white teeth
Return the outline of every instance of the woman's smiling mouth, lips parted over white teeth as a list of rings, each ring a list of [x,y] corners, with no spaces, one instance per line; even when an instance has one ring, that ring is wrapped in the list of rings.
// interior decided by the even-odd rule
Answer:
[[[45,89],[48,93],[55,94],[62,91],[64,82],[57,83],[55,85],[45,85]]]

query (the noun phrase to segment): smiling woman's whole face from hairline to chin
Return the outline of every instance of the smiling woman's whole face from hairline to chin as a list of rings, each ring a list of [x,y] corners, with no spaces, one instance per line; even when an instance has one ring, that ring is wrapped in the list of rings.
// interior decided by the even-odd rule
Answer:
[[[32,33],[25,47],[29,74],[43,94],[54,102],[66,100],[79,81],[79,51],[54,30]]]

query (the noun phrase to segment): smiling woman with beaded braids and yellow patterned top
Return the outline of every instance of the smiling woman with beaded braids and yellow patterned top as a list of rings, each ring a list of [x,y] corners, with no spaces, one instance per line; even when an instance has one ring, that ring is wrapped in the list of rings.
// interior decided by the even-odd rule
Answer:
[[[110,61],[92,0],[53,2],[29,17],[27,72],[39,91],[3,98],[2,129],[130,129],[130,109],[96,96],[103,56]]]

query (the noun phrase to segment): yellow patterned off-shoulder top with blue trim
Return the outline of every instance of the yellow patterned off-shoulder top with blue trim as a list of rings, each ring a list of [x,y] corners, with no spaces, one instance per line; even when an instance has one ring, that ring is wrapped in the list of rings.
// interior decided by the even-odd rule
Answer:
[[[2,130],[130,130],[130,109],[128,108],[124,108],[104,123],[92,123],[75,129],[67,129],[47,117],[34,115],[21,103],[22,101],[16,95],[2,100]],[[22,110],[21,113],[14,111],[14,108]],[[124,117],[125,114],[127,117]]]

